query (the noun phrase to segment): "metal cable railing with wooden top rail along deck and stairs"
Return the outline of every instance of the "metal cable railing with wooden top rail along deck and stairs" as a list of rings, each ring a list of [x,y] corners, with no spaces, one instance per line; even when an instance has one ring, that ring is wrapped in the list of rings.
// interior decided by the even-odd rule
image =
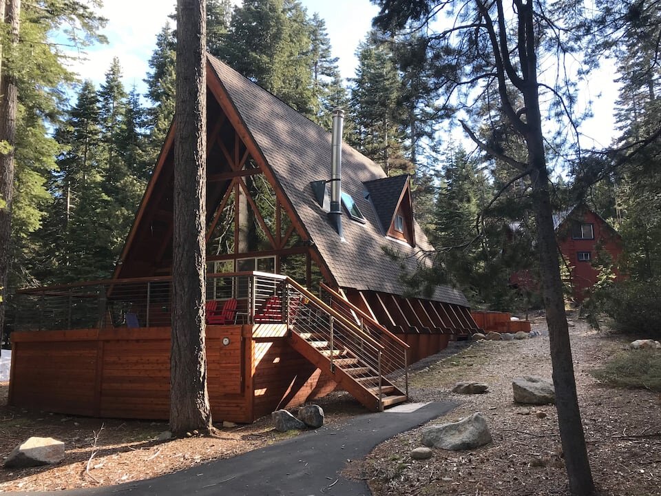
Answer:
[[[379,400],[392,386],[408,395],[408,345],[328,287],[326,301],[287,276],[258,271],[207,274],[210,309],[231,308],[223,324],[284,324]],[[213,302],[212,305],[209,303]],[[172,280],[114,279],[21,289],[14,298],[17,331],[171,325]]]

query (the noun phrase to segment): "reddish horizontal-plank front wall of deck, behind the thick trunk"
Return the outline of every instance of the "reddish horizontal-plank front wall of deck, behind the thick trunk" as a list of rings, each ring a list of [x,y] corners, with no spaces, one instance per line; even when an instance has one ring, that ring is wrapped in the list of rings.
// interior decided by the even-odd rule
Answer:
[[[12,341],[12,405],[100,417],[169,417],[169,327],[15,332]],[[253,420],[252,398],[243,390],[245,349],[242,327],[207,327],[216,421]]]

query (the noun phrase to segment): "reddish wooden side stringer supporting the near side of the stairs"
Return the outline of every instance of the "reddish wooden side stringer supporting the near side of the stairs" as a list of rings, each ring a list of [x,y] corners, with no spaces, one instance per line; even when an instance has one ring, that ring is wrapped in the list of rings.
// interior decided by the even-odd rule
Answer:
[[[370,388],[367,388],[357,378],[355,378],[353,375],[350,375],[347,371],[342,369],[340,366],[333,366],[333,369],[330,367],[330,359],[321,353],[319,349],[316,349],[313,347],[313,345],[309,342],[307,342],[304,338],[302,338],[300,335],[295,333],[294,331],[291,332],[289,336],[289,343],[291,344],[291,347],[295,349],[298,353],[303,355],[306,360],[311,362],[313,365],[317,366],[318,369],[321,369],[322,371],[328,371],[330,372],[330,375],[333,376],[333,380],[337,382],[339,386],[341,386],[345,391],[347,391],[350,395],[355,397],[356,400],[358,400],[361,404],[363,404],[368,410],[370,411],[379,411],[380,409],[380,404],[379,404],[379,397],[378,397],[378,392],[373,393],[370,391]],[[337,360],[335,360],[337,361]],[[395,395],[390,396],[389,400],[388,397],[384,396],[384,406],[390,406],[398,403],[402,403],[406,401],[406,395],[399,391],[397,386],[394,384],[391,384],[386,378],[381,378],[381,385],[384,389],[388,389],[388,391],[394,391]]]

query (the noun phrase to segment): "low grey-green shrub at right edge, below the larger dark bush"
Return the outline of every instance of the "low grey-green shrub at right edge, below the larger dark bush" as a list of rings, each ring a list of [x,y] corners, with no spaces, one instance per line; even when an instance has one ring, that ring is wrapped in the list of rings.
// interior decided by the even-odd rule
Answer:
[[[610,386],[661,391],[661,351],[619,353],[601,369],[592,371],[592,375]]]

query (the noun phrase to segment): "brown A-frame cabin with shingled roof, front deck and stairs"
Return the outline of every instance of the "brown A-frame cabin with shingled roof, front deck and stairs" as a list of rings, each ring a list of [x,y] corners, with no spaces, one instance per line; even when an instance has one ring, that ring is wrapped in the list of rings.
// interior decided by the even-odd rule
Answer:
[[[403,283],[432,251],[408,176],[337,136],[331,172],[328,132],[212,56],[207,112],[214,419],[251,422],[337,387],[373,410],[405,401],[408,364],[477,329],[461,292]],[[174,132],[114,278],[19,294],[30,331],[12,335],[11,404],[167,418]]]

